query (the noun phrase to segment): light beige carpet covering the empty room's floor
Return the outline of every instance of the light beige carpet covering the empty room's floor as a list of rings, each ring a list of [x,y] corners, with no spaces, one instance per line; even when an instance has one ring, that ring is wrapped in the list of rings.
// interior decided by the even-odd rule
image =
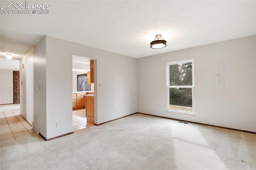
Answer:
[[[67,136],[1,144],[1,170],[256,169],[256,134],[135,114]]]

